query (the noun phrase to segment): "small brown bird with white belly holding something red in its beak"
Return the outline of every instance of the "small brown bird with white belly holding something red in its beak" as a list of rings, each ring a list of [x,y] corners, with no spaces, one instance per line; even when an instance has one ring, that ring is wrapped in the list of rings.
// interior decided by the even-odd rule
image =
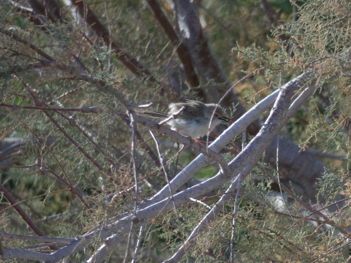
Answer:
[[[193,139],[201,138],[221,122],[231,123],[231,120],[223,116],[223,110],[218,104],[202,103],[199,101],[186,100],[186,102],[170,103],[168,114],[154,112],[146,109],[135,109],[136,113],[156,118],[168,118],[179,112],[168,121],[171,129],[180,134],[191,136]]]

